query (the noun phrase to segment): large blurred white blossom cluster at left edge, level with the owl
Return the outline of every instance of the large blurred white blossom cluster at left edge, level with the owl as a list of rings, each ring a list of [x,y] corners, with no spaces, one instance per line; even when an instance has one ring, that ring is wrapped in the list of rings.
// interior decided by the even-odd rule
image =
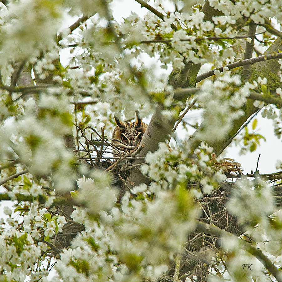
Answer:
[[[67,100],[41,95],[36,103],[33,98],[21,103],[20,115],[10,118],[0,128],[3,161],[18,155],[21,164],[34,175],[49,174],[53,169],[52,180],[57,189],[68,187],[71,190],[73,180],[67,171],[73,154],[64,144],[64,135],[72,131],[72,115]]]

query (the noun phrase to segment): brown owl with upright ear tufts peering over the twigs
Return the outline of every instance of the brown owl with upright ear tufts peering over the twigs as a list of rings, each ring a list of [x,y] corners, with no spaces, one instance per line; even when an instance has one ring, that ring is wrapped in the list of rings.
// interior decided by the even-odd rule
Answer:
[[[134,122],[123,123],[116,116],[115,121],[117,126],[112,133],[112,139],[119,139],[128,146],[138,147],[148,126],[148,124],[142,122],[142,118],[139,118],[138,112],[136,112],[136,120]],[[112,141],[112,143],[117,144],[119,142]],[[124,149],[121,150],[124,151]]]

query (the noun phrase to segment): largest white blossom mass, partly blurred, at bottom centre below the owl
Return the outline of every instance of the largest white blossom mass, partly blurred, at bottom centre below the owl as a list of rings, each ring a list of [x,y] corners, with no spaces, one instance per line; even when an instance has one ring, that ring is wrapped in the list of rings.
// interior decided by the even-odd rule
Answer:
[[[87,182],[94,183],[79,180],[81,186]],[[107,197],[108,191],[100,189],[99,194],[99,199]],[[91,193],[87,198],[94,205],[96,197]],[[104,207],[108,211],[100,209],[95,220],[93,208],[76,207],[72,213],[72,218],[84,224],[86,231],[78,234],[71,248],[61,253],[54,281],[58,277],[78,281],[98,277],[101,281],[155,279],[167,270],[165,262],[179,251],[188,232],[195,227],[198,214],[191,196],[181,187],[162,191],[154,200],[146,194],[133,199],[126,192],[120,208]]]

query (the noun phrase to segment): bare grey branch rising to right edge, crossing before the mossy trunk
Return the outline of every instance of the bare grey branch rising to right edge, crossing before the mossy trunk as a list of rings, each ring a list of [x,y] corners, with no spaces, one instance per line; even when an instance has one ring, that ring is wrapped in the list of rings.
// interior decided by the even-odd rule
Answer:
[[[269,54],[269,55],[262,55],[262,56],[247,59],[247,60],[237,61],[235,63],[228,64],[224,67],[227,67],[229,70],[232,70],[232,69],[238,68],[238,67],[243,66],[243,65],[253,65],[253,64],[258,63],[258,62],[262,62],[262,61],[266,61],[266,60],[273,60],[273,59],[278,59],[278,58],[282,58],[282,52],[273,53],[273,54]],[[224,67],[221,67],[218,70],[220,72],[222,72]],[[209,71],[197,76],[196,82],[200,82],[201,80],[203,80],[207,77],[213,76],[214,71],[215,70],[209,70]]]

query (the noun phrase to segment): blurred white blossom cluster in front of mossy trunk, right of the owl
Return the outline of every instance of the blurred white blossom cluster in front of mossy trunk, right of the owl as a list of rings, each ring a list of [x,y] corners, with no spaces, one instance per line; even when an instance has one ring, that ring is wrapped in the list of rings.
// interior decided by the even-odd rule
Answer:
[[[225,137],[232,128],[233,121],[244,115],[240,109],[249,96],[250,84],[247,82],[239,89],[240,77],[230,76],[226,71],[217,79],[205,81],[198,95],[198,101],[204,109],[202,129],[198,138],[215,142]],[[213,134],[214,130],[217,134]]]

